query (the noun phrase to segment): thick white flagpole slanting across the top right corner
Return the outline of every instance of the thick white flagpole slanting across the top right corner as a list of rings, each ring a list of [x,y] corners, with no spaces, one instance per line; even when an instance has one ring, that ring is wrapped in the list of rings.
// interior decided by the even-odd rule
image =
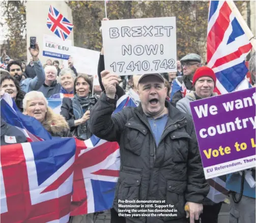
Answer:
[[[256,50],[255,37],[254,37],[253,33],[251,32],[250,28],[248,27],[247,23],[244,21],[242,15],[239,12],[239,10],[237,9],[235,3],[233,1],[226,1],[226,3],[227,3],[227,5],[229,5],[232,12],[235,14],[238,22],[240,23],[240,25],[242,26],[242,28],[244,30],[245,35],[248,37],[253,49]]]

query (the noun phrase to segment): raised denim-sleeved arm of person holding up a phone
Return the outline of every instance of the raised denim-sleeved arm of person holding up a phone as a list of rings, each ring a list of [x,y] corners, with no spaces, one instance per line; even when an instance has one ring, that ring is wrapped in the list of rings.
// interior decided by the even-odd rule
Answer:
[[[38,58],[39,46],[36,43],[36,49],[29,48],[31,56],[33,58],[33,63],[35,67],[36,77],[34,77],[30,82],[30,90],[38,90],[45,81],[45,74],[43,66]]]

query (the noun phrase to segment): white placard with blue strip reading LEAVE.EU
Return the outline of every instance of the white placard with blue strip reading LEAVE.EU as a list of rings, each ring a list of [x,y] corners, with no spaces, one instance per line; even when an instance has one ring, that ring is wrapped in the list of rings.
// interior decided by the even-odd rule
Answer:
[[[43,56],[68,59],[72,47],[71,40],[63,41],[59,37],[44,35]]]

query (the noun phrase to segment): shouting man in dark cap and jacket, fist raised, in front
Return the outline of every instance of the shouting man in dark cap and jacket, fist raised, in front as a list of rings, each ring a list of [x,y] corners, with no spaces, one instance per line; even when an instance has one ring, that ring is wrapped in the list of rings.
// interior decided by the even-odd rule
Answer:
[[[192,119],[165,101],[167,89],[160,74],[142,75],[139,106],[112,115],[118,76],[108,71],[101,76],[105,92],[91,111],[90,129],[120,146],[120,177],[113,208],[125,216],[126,223],[185,223],[187,204],[190,223],[194,222],[203,211],[209,185]],[[148,215],[131,216],[138,213]]]

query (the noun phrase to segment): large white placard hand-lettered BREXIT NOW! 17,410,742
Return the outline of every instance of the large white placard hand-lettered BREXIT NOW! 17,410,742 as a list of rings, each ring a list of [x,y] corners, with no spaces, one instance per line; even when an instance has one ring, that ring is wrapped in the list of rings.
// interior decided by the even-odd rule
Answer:
[[[118,75],[177,71],[176,17],[102,21],[105,69]]]

